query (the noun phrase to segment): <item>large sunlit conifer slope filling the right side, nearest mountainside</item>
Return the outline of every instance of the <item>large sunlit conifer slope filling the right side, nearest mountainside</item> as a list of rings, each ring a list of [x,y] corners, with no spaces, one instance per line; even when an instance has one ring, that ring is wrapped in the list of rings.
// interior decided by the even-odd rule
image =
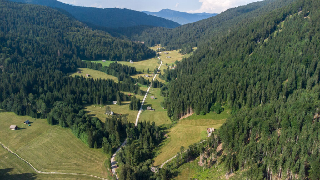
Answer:
[[[297,0],[259,16],[199,45],[170,71],[172,119],[190,107],[207,113],[215,102],[232,108],[204,152],[209,166],[225,163],[226,177],[245,169],[248,179],[319,179],[318,7]]]

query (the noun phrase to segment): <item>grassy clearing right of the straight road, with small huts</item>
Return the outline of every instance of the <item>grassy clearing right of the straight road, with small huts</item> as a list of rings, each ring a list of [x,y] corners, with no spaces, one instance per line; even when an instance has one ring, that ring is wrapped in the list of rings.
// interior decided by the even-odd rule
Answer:
[[[151,99],[151,96],[155,96],[156,99]],[[164,97],[160,96],[160,88],[151,87],[142,107],[144,111],[141,113],[139,120],[154,121],[156,125],[171,124],[172,122],[167,116],[167,110],[164,110],[160,105],[160,102],[163,100]],[[155,110],[146,110],[148,106],[151,106]]]

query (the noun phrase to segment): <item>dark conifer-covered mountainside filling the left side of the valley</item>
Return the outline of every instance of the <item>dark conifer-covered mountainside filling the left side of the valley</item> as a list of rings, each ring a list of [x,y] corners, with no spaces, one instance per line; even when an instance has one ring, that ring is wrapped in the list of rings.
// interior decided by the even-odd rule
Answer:
[[[0,109],[69,127],[89,147],[105,146],[108,153],[120,145],[127,121],[113,118],[109,123],[116,129],[108,128],[87,116],[82,105],[124,100],[120,91],[140,89],[130,81],[115,83],[68,73],[86,65],[80,59],[126,61],[154,55],[141,43],[94,31],[50,7],[0,0]]]

